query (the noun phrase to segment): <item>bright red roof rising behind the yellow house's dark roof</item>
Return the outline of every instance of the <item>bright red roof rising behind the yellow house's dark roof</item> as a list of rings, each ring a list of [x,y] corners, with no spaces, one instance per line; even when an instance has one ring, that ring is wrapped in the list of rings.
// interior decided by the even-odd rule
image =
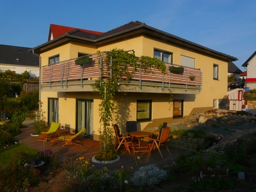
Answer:
[[[53,38],[57,38],[61,35],[64,35],[65,33],[68,33],[70,31],[74,31],[76,29],[79,29],[79,28],[71,28],[71,27],[67,27],[67,26],[59,26],[59,25],[51,24],[48,41],[51,40],[51,34],[52,34]],[[86,30],[86,29],[79,29],[79,30],[87,32],[87,33],[92,33],[94,35],[101,35],[102,34],[102,32],[99,32],[99,31],[90,31],[90,30]]]

